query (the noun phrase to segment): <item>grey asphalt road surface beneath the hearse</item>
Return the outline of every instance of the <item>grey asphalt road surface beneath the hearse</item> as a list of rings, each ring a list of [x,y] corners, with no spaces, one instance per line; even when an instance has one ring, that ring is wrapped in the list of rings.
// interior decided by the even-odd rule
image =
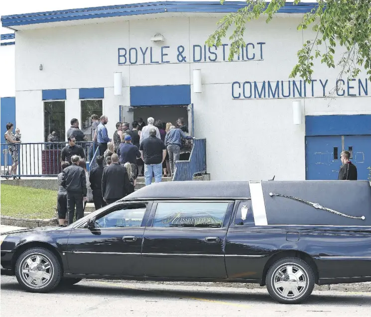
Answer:
[[[1,276],[1,317],[370,316],[371,292],[314,291],[302,305],[275,303],[265,289],[83,280],[49,294]]]

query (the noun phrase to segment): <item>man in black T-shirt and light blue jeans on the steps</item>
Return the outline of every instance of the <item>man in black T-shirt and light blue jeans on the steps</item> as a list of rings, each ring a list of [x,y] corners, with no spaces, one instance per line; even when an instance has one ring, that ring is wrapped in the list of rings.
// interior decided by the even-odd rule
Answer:
[[[144,139],[140,144],[139,151],[144,161],[145,185],[151,184],[152,173],[154,174],[154,182],[160,182],[162,176],[162,162],[166,158],[166,148],[162,140],[156,137],[156,130],[154,127],[149,130],[149,137]]]

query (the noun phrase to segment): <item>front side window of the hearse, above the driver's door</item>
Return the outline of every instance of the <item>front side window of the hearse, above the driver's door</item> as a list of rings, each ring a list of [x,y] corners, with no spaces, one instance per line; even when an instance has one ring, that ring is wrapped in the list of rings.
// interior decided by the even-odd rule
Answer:
[[[96,228],[140,227],[145,213],[145,204],[129,204],[110,210],[95,221]]]

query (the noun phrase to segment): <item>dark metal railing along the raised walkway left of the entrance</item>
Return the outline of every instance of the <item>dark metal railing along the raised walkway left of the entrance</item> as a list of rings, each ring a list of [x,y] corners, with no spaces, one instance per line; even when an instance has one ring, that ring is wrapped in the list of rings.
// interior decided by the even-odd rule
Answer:
[[[89,168],[89,162],[94,158],[97,143],[84,141],[76,144],[83,147]],[[68,142],[1,143],[1,177],[57,176],[62,171],[61,151],[66,145]],[[17,172],[14,175],[6,175],[7,171],[11,171],[11,164],[13,164],[10,153],[6,153],[9,148],[18,152]]]

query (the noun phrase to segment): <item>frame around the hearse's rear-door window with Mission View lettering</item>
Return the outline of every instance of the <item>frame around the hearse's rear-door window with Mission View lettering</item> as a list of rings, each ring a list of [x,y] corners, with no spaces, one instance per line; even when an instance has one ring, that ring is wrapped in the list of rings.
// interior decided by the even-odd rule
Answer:
[[[224,218],[223,218],[223,221],[222,221],[222,225],[218,228],[213,228],[213,227],[154,227],[153,224],[154,224],[154,218],[155,218],[155,215],[156,215],[156,210],[157,210],[157,204],[158,203],[187,203],[187,202],[193,202],[193,203],[210,203],[210,202],[224,202],[224,203],[228,203],[227,205],[227,210],[224,214]],[[234,204],[235,204],[235,201],[232,200],[232,199],[212,199],[212,200],[202,200],[202,199],[195,199],[195,200],[187,200],[187,199],[182,199],[182,200],[154,200],[153,201],[153,204],[152,204],[152,208],[151,208],[151,212],[149,214],[149,218],[148,218],[148,221],[147,221],[147,226],[146,226],[146,229],[147,228],[152,228],[152,229],[160,229],[160,230],[174,230],[174,229],[181,229],[181,230],[220,230],[220,229],[228,229],[229,227],[229,223],[230,223],[230,220],[231,220],[231,215],[233,213],[233,209],[234,209]]]

